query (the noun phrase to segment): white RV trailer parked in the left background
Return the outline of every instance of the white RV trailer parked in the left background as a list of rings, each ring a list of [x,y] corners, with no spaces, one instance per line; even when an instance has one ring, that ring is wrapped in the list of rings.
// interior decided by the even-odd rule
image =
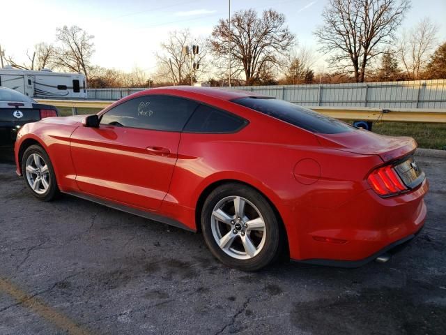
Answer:
[[[86,98],[85,75],[0,68],[0,86],[15,89],[30,98]]]

